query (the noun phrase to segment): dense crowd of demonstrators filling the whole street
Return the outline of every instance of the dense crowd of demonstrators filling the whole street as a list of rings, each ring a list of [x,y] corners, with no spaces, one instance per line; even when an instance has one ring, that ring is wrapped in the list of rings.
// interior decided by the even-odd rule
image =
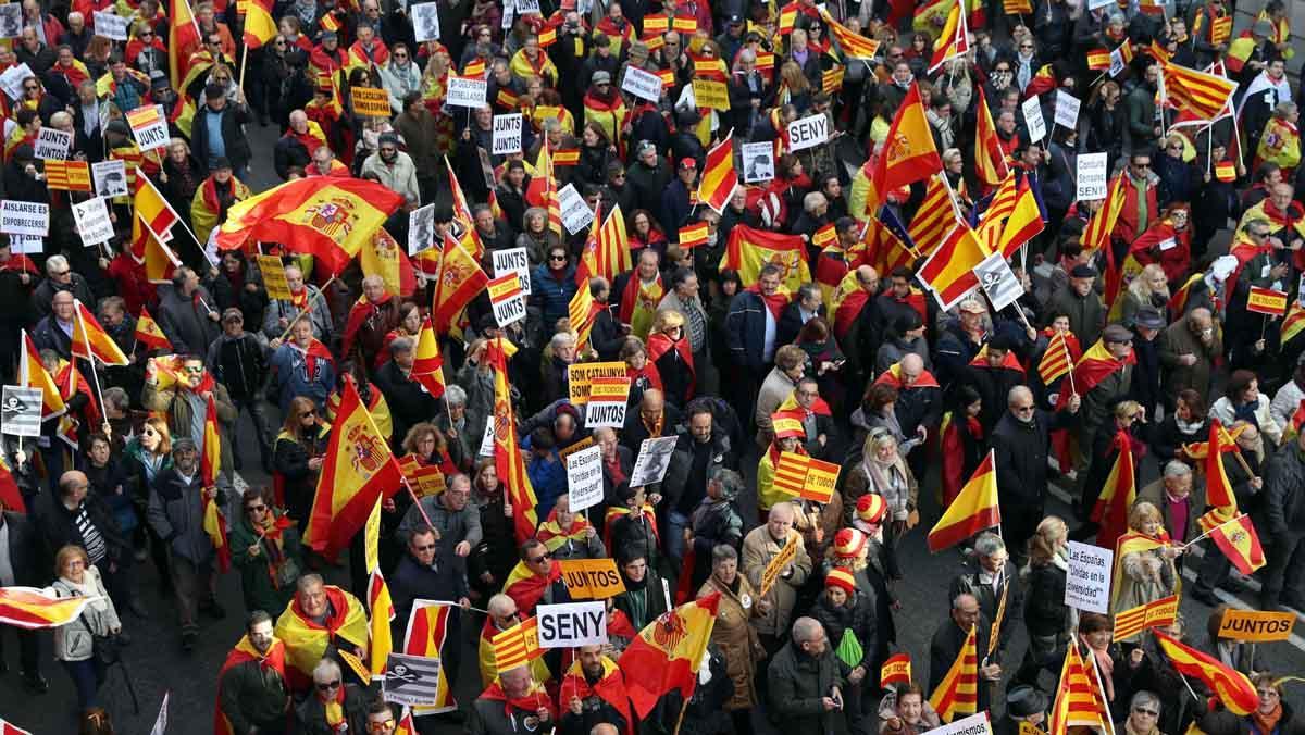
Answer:
[[[1258,607],[1305,608],[1305,208],[1287,12],[1283,0],[1240,18],[1225,0],[1088,5],[450,0],[415,27],[414,7],[380,0],[23,0],[21,35],[0,48],[0,82],[23,69],[0,101],[3,189],[50,206],[48,236],[0,235],[0,377],[35,385],[43,369],[65,410],[39,440],[3,436],[0,484],[13,492],[0,492],[0,586],[93,602],[56,628],[54,650],[12,629],[22,685],[46,693],[59,661],[84,727],[103,727],[106,651],[147,634],[191,654],[201,619],[231,607],[215,595],[230,556],[245,634],[221,671],[194,672],[217,687],[219,732],[407,727],[355,666],[376,634],[364,533],[347,569],[304,542],[341,394],[356,386],[393,454],[438,477],[420,497],[386,488],[378,568],[395,650],[422,601],[445,601],[432,638],[441,696],[465,680],[483,689],[418,710],[418,731],[711,735],[769,721],[914,735],[940,726],[930,698],[968,636],[987,651],[976,706],[1000,714],[1001,735],[1047,727],[1070,648],[1094,662],[1109,718],[1131,735],[1301,731],[1283,672],[1218,634],[1228,607],[1216,590],[1248,594],[1251,581],[1220,548],[1203,544],[1197,560],[1190,543],[1207,510],[1198,445],[1219,422],[1236,507],[1263,546]],[[125,20],[127,39],[104,35],[104,14]],[[843,34],[874,44],[873,57]],[[1101,54],[1116,63],[1101,67]],[[1193,120],[1159,91],[1169,65],[1236,81],[1229,114]],[[632,91],[636,72],[662,80],[656,101]],[[485,82],[482,107],[446,104],[457,78]],[[727,99],[699,107],[710,90],[698,81],[722,82]],[[356,111],[368,87],[385,91],[389,115]],[[1081,101],[1073,124],[1065,94]],[[894,124],[914,101],[932,140],[903,142],[916,133]],[[142,151],[127,114],[150,104],[171,140]],[[510,114],[521,145],[501,153],[496,119]],[[829,134],[803,148],[790,124],[812,116]],[[269,125],[282,131],[270,164],[249,138]],[[130,195],[107,200],[112,242],[84,245],[69,205],[103,189],[51,175],[46,128],[70,133],[67,161],[123,161],[129,192],[153,187],[179,215],[162,279]],[[736,166],[716,210],[699,189],[723,141],[740,162],[743,145],[767,144],[773,178]],[[936,150],[940,171],[877,188],[898,145]],[[1103,240],[1091,231],[1105,201],[1078,201],[1077,159],[1094,153],[1121,201]],[[994,179],[994,164],[1009,172]],[[295,243],[219,251],[211,234],[252,196],[251,174],[380,183],[402,197],[385,222],[394,242],[433,205],[435,248],[412,253],[401,286],[359,262],[333,273]],[[1006,176],[1034,193],[1041,221],[1007,253],[1021,295],[993,308],[974,289],[944,308],[921,269],[962,221],[980,227]],[[595,273],[590,228],[561,227],[547,192],[569,185],[598,225],[621,221],[616,262],[628,268]],[[940,206],[930,234],[920,223]],[[891,222],[906,225],[894,232],[914,240],[911,257],[883,239],[868,247]],[[690,240],[698,225],[706,234]],[[745,240],[770,235],[799,238],[797,261],[741,257]],[[488,292],[470,294],[438,329],[436,397],[414,364],[446,273],[423,264],[458,242],[489,277],[495,252],[523,248],[529,308],[500,326]],[[288,299],[269,296],[257,255],[279,257]],[[585,291],[594,307],[577,315]],[[1272,313],[1266,294],[1280,296]],[[74,354],[82,307],[127,366]],[[141,339],[154,324],[166,346]],[[506,367],[491,358],[504,345]],[[1060,352],[1064,369],[1049,369]],[[591,362],[624,363],[624,426],[586,426],[570,368]],[[510,410],[496,399],[500,371]],[[482,441],[487,423],[502,435],[512,418],[539,521],[525,539],[530,509],[506,488],[521,480]],[[676,440],[664,478],[632,486],[645,440],[660,437]],[[603,497],[577,512],[566,458],[590,444]],[[779,482],[786,454],[840,467],[827,501]],[[963,542],[966,571],[937,584],[950,602],[941,620],[904,610],[903,540],[987,457],[1000,535]],[[1069,517],[1048,514],[1053,482],[1070,488]],[[1114,641],[1112,615],[1066,606],[1067,542],[1113,547],[1099,499],[1125,486],[1137,487],[1125,530],[1154,543],[1120,555],[1111,614],[1177,593],[1182,568],[1195,571],[1181,594],[1214,611],[1167,632],[1249,675],[1254,712],[1228,712],[1220,692],[1178,676],[1150,632]],[[226,518],[218,537],[211,505]],[[791,561],[763,580],[780,555]],[[624,591],[606,601],[607,642],[500,671],[493,636],[570,601],[561,563],[576,559],[615,560]],[[172,621],[142,602],[150,568]],[[621,653],[709,597],[692,697],[637,714]],[[927,651],[900,645],[903,616],[936,625]],[[912,654],[915,675],[881,687],[895,653]]]

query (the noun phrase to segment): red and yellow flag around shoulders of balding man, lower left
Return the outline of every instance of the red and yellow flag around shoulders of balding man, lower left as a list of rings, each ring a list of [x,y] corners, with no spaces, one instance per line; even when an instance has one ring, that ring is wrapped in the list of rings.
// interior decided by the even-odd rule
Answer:
[[[328,644],[335,648],[359,648],[367,651],[367,612],[363,603],[335,585],[324,585],[326,602],[333,611],[318,624],[304,614],[296,594],[286,611],[277,619],[275,634],[286,642],[286,675],[292,689],[301,691],[313,679],[313,667],[326,653]]]

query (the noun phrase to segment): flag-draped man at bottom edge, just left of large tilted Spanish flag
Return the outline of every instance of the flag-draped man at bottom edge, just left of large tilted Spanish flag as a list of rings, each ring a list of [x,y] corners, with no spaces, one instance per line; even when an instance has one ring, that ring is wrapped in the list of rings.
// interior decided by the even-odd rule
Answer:
[[[615,725],[626,735],[632,732],[625,675],[615,661],[603,655],[600,645],[577,649],[576,662],[562,678],[559,704],[562,732],[589,732],[599,723]]]

